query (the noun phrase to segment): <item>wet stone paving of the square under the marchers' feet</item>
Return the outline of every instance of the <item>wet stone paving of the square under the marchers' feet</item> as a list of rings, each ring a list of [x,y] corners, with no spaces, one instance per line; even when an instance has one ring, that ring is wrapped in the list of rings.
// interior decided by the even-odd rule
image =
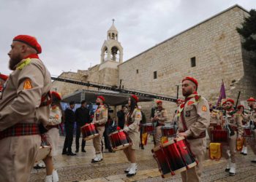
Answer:
[[[86,182],[101,182],[101,181],[181,181],[181,175],[173,175],[170,178],[162,178],[157,162],[152,157],[151,149],[153,142],[148,140],[144,150],[137,151],[138,173],[127,178],[124,170],[129,163],[124,156],[123,151],[115,153],[103,153],[103,161],[97,164],[91,164],[91,159],[94,158],[94,147],[92,140],[86,141],[86,153],[79,151],[76,156],[70,157],[62,155],[62,146],[64,137],[61,137],[59,143],[59,155],[54,158],[54,165],[59,173],[59,181],[86,181]],[[75,137],[73,141],[72,151],[75,152]],[[207,151],[208,152],[208,151]],[[207,153],[208,155],[208,153]],[[225,172],[226,160],[212,161],[207,159],[203,164],[202,181],[256,181],[256,164],[250,162],[254,158],[252,151],[249,150],[247,156],[236,154],[237,169],[235,176],[229,176]],[[45,169],[32,170],[30,182],[44,181]]]

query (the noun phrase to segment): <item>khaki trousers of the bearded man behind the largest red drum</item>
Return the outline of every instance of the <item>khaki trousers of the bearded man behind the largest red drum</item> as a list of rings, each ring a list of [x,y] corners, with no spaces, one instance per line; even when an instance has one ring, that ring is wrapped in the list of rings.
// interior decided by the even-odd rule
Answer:
[[[206,137],[187,141],[192,153],[197,159],[198,165],[182,172],[181,179],[182,181],[186,182],[200,181],[200,176],[203,172],[203,160],[205,159],[206,155]]]

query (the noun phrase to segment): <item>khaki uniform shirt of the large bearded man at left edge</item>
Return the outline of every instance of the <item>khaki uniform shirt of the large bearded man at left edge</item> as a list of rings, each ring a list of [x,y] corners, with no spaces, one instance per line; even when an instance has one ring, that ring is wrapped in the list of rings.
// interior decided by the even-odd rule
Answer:
[[[48,123],[50,106],[39,107],[50,91],[50,73],[41,60],[21,60],[0,98],[0,131],[16,123]]]

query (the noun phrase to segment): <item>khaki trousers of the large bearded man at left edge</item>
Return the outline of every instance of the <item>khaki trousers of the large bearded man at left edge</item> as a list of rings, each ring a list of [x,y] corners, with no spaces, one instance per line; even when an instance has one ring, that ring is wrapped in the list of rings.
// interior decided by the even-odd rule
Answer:
[[[0,181],[29,181],[40,145],[40,135],[8,137],[0,140]]]

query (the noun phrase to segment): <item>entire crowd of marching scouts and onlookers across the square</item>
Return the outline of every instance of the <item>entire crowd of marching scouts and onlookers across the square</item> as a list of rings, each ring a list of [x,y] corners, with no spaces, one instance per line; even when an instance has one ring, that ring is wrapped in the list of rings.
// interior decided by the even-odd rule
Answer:
[[[136,153],[143,149],[141,142],[142,124],[146,124],[145,115],[138,106],[139,98],[130,95],[126,106],[121,106],[117,112],[117,121],[110,118],[105,98],[95,98],[97,105],[94,116],[90,116],[86,108],[86,100],[75,108],[75,102],[69,103],[69,108],[62,111],[61,96],[50,92],[50,73],[45,68],[39,53],[42,47],[33,36],[20,35],[12,40],[9,67],[10,76],[0,75],[0,181],[29,181],[32,167],[42,141],[50,145],[50,153],[42,159],[46,167],[45,181],[59,181],[59,176],[53,165],[53,157],[57,154],[59,145],[59,124],[64,122],[65,141],[62,154],[75,156],[79,149],[86,152],[86,141],[82,139],[80,147],[81,127],[94,124],[98,135],[92,139],[95,157],[92,163],[103,160],[102,138],[105,139],[105,149],[112,152],[108,135],[110,127],[123,130],[131,144],[123,149],[129,165],[124,173],[127,177],[136,175],[138,171]],[[4,83],[4,84],[2,84]],[[236,174],[236,141],[244,137],[244,125],[249,126],[254,140],[244,140],[241,154],[247,154],[246,144],[252,147],[256,157],[256,100],[247,100],[250,110],[244,106],[234,108],[234,100],[222,100],[221,110],[214,109],[211,103],[197,93],[198,82],[192,77],[181,80],[184,100],[178,99],[173,124],[177,125],[175,137],[186,138],[189,149],[197,160],[197,165],[181,172],[182,181],[200,181],[203,171],[203,160],[206,155],[206,132],[214,142],[214,131],[227,130],[227,146],[223,155],[227,159],[227,171]],[[72,152],[74,125],[76,122],[75,153]],[[154,125],[154,146],[162,145],[162,130],[167,122],[167,110],[161,100],[157,100],[157,108],[151,111],[150,122]],[[82,137],[83,138],[83,137]],[[256,158],[252,160],[256,162]]]

